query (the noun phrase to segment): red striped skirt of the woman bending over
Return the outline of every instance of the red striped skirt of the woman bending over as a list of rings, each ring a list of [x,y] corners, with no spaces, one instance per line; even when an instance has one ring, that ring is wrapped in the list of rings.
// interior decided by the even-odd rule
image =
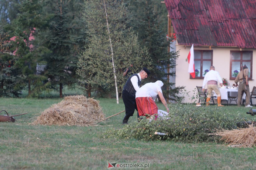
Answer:
[[[136,104],[140,116],[157,116],[158,107],[151,97],[137,97]]]

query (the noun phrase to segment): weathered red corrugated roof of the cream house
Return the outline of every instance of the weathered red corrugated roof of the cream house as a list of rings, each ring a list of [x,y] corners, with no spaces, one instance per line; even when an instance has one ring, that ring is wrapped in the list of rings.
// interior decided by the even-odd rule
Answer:
[[[255,0],[165,0],[178,44],[256,48]]]

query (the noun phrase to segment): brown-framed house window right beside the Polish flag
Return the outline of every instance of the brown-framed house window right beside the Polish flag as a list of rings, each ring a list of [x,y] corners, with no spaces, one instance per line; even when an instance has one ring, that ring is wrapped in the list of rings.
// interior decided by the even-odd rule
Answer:
[[[204,79],[212,66],[212,50],[194,50],[196,79]],[[190,75],[190,79],[193,79]]]

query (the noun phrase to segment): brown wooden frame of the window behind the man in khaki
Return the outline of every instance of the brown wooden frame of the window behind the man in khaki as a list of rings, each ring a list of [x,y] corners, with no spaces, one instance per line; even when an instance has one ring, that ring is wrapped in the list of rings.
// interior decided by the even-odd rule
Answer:
[[[240,60],[232,60],[232,52],[234,53],[240,53]],[[243,52],[250,52],[251,53],[251,60],[243,60]],[[243,62],[251,62],[250,67],[251,67],[251,72],[250,72],[250,77],[248,77],[248,80],[252,80],[252,53],[253,51],[250,50],[244,50],[244,51],[239,51],[239,50],[230,50],[230,68],[229,68],[229,80],[235,80],[236,77],[232,77],[232,62],[233,61],[240,61],[240,71],[242,70],[242,63]],[[241,67],[242,66],[242,67]]]

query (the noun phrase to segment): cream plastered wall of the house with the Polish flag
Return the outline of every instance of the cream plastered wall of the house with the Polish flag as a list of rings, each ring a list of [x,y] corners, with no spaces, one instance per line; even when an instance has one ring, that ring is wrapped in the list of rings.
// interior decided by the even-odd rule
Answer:
[[[203,79],[190,79],[189,73],[188,73],[188,61],[186,61],[186,58],[188,56],[189,50],[191,46],[186,46],[186,49],[184,45],[176,45],[176,50],[179,51],[179,58],[176,60],[176,77],[175,77],[175,83],[176,87],[178,86],[185,86],[185,90],[183,91],[183,94],[180,94],[179,96],[184,95],[183,102],[185,103],[191,103],[191,102],[197,102],[197,99],[191,100],[191,97],[195,96],[197,93],[196,86],[202,86]],[[209,47],[196,47],[194,46],[194,50],[209,50]],[[211,47],[211,50],[213,51],[213,58],[212,63],[215,67],[215,71],[218,71],[220,73],[221,78],[225,78],[228,80],[230,86],[234,84],[234,80],[229,80],[229,72],[230,72],[230,51],[231,50],[240,50],[239,48],[235,47]],[[253,57],[252,57],[252,79],[249,80],[249,87],[250,92],[252,91],[252,87],[256,86],[256,50],[255,49],[242,49],[243,50],[252,50],[253,51]],[[210,70],[210,68],[209,68]],[[193,91],[194,90],[194,91]],[[187,93],[187,94],[184,94]],[[256,100],[255,100],[256,101]],[[253,103],[255,103],[253,100]]]

